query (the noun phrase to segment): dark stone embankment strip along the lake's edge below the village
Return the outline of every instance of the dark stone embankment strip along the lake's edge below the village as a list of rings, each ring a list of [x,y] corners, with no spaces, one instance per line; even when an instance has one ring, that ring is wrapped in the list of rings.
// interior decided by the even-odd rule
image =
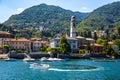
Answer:
[[[42,57],[46,58],[57,58],[56,55],[50,55],[48,53],[40,54],[40,53],[31,53],[28,54],[31,58],[34,59],[40,59]],[[14,58],[14,59],[24,59],[26,57],[23,53],[12,53],[12,54],[0,54],[0,59],[7,59],[7,58]],[[115,58],[107,57],[106,55],[89,55],[89,56],[73,56],[73,55],[65,55],[65,54],[59,54],[59,57],[61,59],[89,59],[89,60],[95,60],[95,59],[120,59],[120,56],[115,56]]]

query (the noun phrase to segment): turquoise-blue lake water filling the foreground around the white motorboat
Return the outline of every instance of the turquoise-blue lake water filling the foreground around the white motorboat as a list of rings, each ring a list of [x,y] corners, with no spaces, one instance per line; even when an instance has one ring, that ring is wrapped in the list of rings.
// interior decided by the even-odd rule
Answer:
[[[120,80],[120,60],[35,62],[49,64],[51,68],[33,69],[30,68],[32,62],[0,60],[0,80]]]

